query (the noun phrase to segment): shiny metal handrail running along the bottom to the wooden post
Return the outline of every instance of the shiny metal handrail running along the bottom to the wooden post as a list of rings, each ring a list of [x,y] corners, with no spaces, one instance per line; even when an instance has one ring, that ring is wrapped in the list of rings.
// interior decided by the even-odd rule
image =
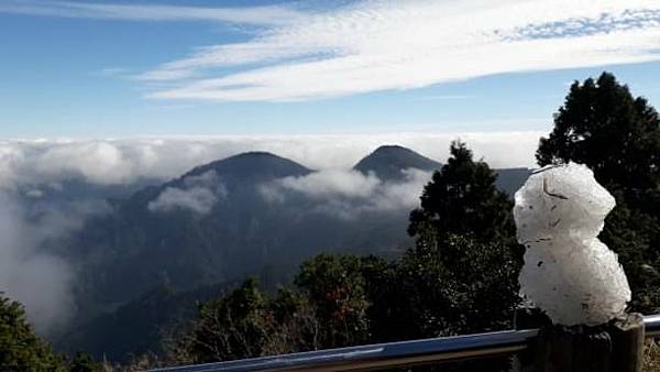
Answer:
[[[660,314],[646,316],[644,325],[646,337],[660,337]],[[506,330],[297,352],[154,371],[363,371],[513,354],[527,349],[537,335],[538,329]]]

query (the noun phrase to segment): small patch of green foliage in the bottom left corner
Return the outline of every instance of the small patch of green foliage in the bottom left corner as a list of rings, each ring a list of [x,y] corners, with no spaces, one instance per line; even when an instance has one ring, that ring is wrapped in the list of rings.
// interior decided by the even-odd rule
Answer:
[[[55,354],[28,324],[23,306],[2,296],[0,371],[66,371],[63,358]]]

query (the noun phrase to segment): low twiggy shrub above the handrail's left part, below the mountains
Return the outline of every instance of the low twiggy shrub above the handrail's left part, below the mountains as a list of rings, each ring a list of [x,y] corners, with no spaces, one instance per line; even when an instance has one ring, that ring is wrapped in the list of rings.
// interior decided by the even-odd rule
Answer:
[[[183,341],[172,348],[176,363],[204,363],[320,347],[320,325],[308,299],[279,289],[275,298],[250,278],[230,294],[207,302]]]

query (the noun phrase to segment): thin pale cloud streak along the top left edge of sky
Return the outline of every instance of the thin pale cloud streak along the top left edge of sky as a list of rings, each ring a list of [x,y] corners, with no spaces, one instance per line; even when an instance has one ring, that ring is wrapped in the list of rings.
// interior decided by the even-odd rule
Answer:
[[[127,21],[213,21],[276,25],[301,17],[289,7],[201,8],[147,3],[113,4],[98,2],[3,0],[0,12]]]

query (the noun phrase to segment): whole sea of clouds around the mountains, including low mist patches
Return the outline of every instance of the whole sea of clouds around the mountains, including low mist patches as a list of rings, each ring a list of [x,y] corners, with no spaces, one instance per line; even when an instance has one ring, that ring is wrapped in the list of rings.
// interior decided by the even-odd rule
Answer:
[[[298,194],[317,200],[317,211],[354,218],[365,211],[409,209],[418,203],[430,173],[407,169],[400,182],[385,183],[351,167],[383,144],[399,144],[443,162],[449,143],[461,138],[493,167],[531,166],[539,132],[392,133],[360,135],[212,136],[122,140],[13,140],[0,142],[0,291],[23,303],[40,332],[65,325],[74,314],[75,270],[54,247],[75,233],[89,216],[109,206],[97,198],[53,198],[67,182],[88,187],[160,184],[190,168],[246,151],[268,151],[318,171],[261,185],[261,196],[284,203]],[[166,188],[148,209],[187,208],[207,214],[227,197],[215,173]],[[87,187],[84,186],[84,187]],[[57,201],[53,201],[57,200]],[[94,249],[94,248],[90,248]]]

